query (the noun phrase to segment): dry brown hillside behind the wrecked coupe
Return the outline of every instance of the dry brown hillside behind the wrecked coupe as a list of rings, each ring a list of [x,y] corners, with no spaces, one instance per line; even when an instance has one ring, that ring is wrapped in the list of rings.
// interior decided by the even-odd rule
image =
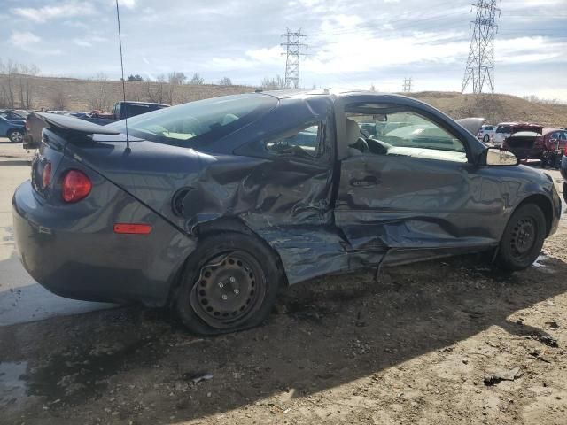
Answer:
[[[8,77],[0,75],[0,92]],[[22,107],[23,92],[29,90],[30,107],[35,109],[66,109],[110,111],[122,98],[121,81],[78,80],[17,75],[12,78],[15,106]],[[217,97],[253,91],[249,86],[171,85],[165,82],[127,81],[128,100],[182,104],[206,97]],[[1,94],[1,93],[0,93]],[[503,121],[529,121],[545,126],[567,126],[567,104],[536,104],[509,95],[470,95],[457,92],[424,91],[405,93],[415,97],[454,119],[485,117],[496,124]],[[2,106],[2,104],[0,104]]]

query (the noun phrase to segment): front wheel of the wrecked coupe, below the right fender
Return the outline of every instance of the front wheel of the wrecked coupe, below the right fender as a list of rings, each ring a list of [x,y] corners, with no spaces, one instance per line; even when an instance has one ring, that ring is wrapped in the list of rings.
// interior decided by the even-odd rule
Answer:
[[[497,262],[509,271],[532,266],[546,237],[546,218],[535,204],[520,206],[510,217],[501,238]]]

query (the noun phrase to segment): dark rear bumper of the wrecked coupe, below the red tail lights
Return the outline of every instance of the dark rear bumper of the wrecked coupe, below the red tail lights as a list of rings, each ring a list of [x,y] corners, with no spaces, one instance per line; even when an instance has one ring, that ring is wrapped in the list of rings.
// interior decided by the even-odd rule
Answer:
[[[125,194],[120,197],[137,203]],[[151,237],[114,234],[112,205],[86,215],[62,210],[44,205],[29,181],[14,193],[16,243],[22,264],[35,281],[66,298],[167,303],[177,273],[195,249],[193,239],[150,210],[144,211],[142,220],[151,224]]]

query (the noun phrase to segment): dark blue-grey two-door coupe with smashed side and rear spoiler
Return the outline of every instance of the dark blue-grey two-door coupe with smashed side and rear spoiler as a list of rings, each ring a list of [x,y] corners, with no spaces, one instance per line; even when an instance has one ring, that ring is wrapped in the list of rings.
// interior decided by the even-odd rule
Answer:
[[[323,274],[473,251],[524,269],[561,213],[546,174],[408,97],[251,93],[105,127],[38,115],[13,197],[29,274],[170,305],[200,335],[257,326],[280,286]]]

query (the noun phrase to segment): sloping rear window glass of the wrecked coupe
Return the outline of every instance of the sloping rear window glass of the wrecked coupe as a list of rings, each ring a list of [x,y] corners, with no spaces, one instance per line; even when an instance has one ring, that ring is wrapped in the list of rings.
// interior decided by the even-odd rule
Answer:
[[[152,142],[196,147],[219,140],[276,107],[277,99],[251,94],[199,100],[128,119],[128,133]],[[126,132],[125,121],[107,127]]]

